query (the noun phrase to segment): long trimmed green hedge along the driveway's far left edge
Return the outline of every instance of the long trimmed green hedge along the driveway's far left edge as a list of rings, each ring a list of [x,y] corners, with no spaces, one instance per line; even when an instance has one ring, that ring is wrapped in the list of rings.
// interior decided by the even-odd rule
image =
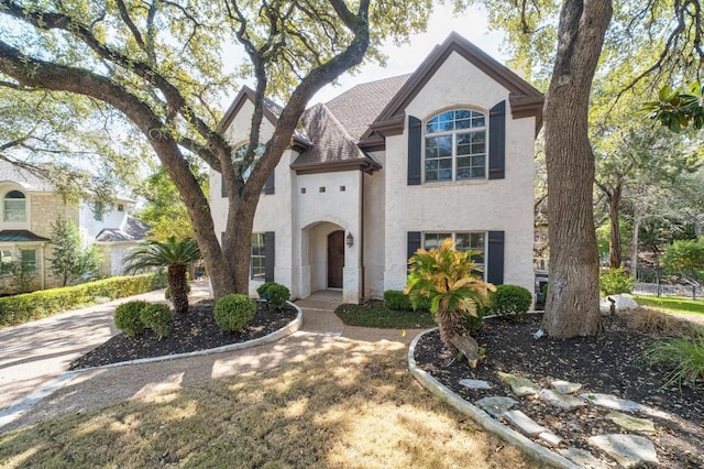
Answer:
[[[113,276],[75,286],[6,296],[0,298],[0,328],[63,313],[97,297],[117,299],[163,288],[164,280],[160,273]]]

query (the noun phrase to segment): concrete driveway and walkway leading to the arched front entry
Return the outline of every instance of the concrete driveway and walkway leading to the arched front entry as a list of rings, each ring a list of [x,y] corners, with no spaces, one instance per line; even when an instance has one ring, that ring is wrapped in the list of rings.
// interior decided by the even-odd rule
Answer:
[[[191,301],[208,297],[207,283],[191,283]],[[112,313],[130,299],[164,301],[151,292],[0,330],[0,432],[59,415],[81,413],[153,391],[298,362],[327,350],[341,337],[408,345],[419,332],[344,326],[334,315],[339,292],[317,292],[296,304],[299,331],[273,343],[169,361],[66,372],[68,363],[117,330]],[[4,425],[4,426],[3,426]]]

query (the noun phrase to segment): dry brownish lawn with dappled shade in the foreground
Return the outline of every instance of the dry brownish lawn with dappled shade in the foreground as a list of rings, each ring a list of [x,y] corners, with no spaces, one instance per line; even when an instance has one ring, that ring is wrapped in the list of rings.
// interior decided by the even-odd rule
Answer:
[[[154,393],[0,436],[0,466],[528,468],[409,375],[406,350],[339,340],[302,363]]]

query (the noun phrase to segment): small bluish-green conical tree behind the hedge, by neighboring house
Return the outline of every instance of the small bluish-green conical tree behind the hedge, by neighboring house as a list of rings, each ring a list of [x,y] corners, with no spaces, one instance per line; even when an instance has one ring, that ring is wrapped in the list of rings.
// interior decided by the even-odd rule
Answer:
[[[52,223],[52,272],[61,279],[62,286],[95,275],[102,263],[100,249],[96,244],[86,244],[70,219],[58,218]]]

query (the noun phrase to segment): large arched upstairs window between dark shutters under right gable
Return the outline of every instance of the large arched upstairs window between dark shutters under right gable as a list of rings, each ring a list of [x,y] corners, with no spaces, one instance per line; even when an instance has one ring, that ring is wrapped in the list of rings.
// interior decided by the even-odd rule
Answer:
[[[426,122],[426,182],[486,177],[486,117],[458,109]]]

